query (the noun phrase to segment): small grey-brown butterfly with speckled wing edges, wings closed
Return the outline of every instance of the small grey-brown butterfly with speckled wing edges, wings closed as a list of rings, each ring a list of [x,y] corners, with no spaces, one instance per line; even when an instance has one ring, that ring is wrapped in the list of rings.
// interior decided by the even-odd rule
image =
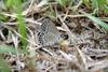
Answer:
[[[54,45],[62,40],[62,33],[49,17],[42,18],[40,23],[42,24],[38,33],[38,42],[40,45]]]

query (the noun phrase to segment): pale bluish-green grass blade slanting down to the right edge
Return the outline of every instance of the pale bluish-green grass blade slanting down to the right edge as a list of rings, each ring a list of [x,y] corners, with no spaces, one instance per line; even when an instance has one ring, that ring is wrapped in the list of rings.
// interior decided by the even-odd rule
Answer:
[[[86,17],[89,17],[90,19],[92,19],[94,23],[96,23],[97,25],[102,26],[105,29],[108,29],[108,24],[104,23],[103,20],[100,20],[99,18],[92,16],[91,14],[86,14],[84,13]]]

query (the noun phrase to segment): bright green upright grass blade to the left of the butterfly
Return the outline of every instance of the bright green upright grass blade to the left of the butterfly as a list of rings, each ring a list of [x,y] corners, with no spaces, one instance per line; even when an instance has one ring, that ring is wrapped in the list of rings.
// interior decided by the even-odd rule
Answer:
[[[26,25],[25,25],[23,15],[22,15],[22,1],[16,0],[15,6],[16,6],[16,13],[17,13],[17,23],[18,23],[19,34],[26,39],[27,33],[26,33]],[[27,41],[25,39],[21,38],[21,42],[22,42],[24,49],[26,49],[26,46],[27,46]]]

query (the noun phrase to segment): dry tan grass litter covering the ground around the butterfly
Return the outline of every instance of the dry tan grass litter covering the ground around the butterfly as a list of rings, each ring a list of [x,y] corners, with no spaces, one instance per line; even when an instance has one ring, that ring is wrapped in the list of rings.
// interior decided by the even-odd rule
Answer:
[[[19,38],[23,37],[17,29],[17,14],[1,13],[9,19],[0,23],[4,24],[0,25],[0,44],[13,45],[16,49],[16,55],[3,53],[12,72],[108,71],[108,30],[81,13],[81,10],[91,12],[82,5],[82,1],[70,8],[60,6],[55,1],[46,3],[28,0],[23,9],[22,15],[27,29],[25,40],[28,43],[26,53],[18,52],[22,47]],[[67,33],[68,39],[57,45],[41,46],[37,43],[37,30],[41,26],[38,20],[48,16],[58,30]]]

